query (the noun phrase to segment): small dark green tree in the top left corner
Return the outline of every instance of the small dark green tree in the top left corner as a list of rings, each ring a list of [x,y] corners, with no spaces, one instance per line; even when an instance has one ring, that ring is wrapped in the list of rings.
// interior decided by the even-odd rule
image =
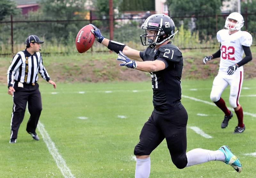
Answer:
[[[0,0],[0,21],[8,15],[15,15],[19,13],[16,5],[10,0]]]

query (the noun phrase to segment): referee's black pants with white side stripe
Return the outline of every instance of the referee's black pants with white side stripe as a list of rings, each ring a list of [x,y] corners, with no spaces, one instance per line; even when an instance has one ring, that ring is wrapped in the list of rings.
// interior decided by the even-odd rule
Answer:
[[[34,86],[23,83],[23,88],[18,87],[18,82],[14,83],[13,88],[13,109],[11,118],[11,139],[17,139],[20,124],[24,118],[26,106],[30,117],[27,123],[27,132],[35,133],[36,126],[42,111],[42,100],[38,83]]]

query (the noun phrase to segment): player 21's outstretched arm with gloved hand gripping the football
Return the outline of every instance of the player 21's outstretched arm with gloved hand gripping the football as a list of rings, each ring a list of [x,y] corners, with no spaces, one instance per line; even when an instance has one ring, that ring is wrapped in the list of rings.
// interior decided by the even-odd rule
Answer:
[[[108,47],[111,51],[115,53],[119,53],[119,51],[122,51],[126,56],[129,58],[135,59],[137,61],[142,61],[140,58],[140,51],[130,48],[129,46],[126,46],[123,43],[119,43],[113,40],[106,39],[101,33],[100,29],[97,28],[95,25],[92,25],[91,32],[94,34],[95,39],[103,44],[104,46]]]

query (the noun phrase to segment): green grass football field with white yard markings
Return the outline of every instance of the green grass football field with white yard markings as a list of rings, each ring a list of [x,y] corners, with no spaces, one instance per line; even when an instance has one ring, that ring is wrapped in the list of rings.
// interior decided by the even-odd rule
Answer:
[[[0,177],[134,177],[136,161],[133,149],[153,110],[150,81],[57,83],[55,90],[46,82],[40,81],[39,84],[43,102],[37,127],[40,140],[33,140],[25,130],[29,117],[26,110],[16,144],[9,144],[12,97],[7,94],[7,87],[0,85]],[[194,148],[217,150],[228,145],[239,157],[242,173],[220,161],[180,170],[173,165],[163,141],[151,154],[150,177],[256,177],[256,79],[244,80],[243,83],[239,101],[245,112],[246,130],[242,134],[233,134],[237,125],[235,115],[226,129],[220,128],[224,114],[210,105],[211,87],[212,79],[182,81],[184,97],[181,101],[188,111],[187,151]],[[222,97],[229,106],[228,95],[227,88]],[[190,126],[199,127],[212,138],[204,138]],[[254,156],[246,153],[254,153]]]

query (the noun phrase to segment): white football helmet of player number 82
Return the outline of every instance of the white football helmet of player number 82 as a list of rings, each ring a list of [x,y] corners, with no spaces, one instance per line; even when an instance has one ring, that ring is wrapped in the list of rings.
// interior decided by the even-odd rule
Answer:
[[[229,19],[236,20],[236,24],[229,21]],[[229,16],[226,19],[225,22],[225,28],[227,28],[230,31],[233,30],[241,30],[241,28],[244,26],[244,18],[241,14],[238,12],[233,12],[229,14]]]

